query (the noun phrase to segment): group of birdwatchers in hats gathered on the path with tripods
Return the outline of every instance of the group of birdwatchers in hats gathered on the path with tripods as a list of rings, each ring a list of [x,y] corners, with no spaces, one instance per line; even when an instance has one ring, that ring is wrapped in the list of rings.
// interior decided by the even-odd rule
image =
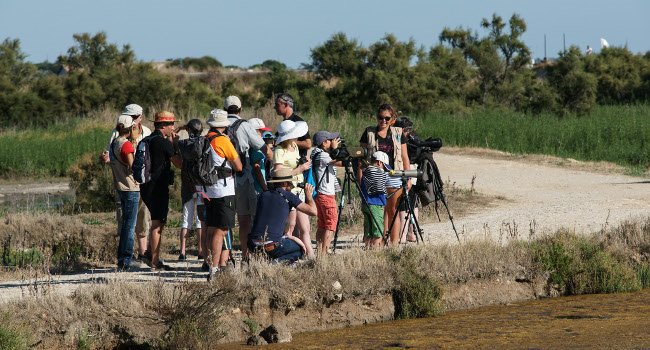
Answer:
[[[182,182],[179,260],[187,259],[186,236],[196,222],[198,258],[204,260],[208,278],[229,266],[236,221],[243,263],[257,253],[282,262],[328,253],[338,223],[336,167],[343,165],[331,153],[339,147],[340,135],[323,130],[312,137],[286,93],[275,98],[275,111],[283,118],[276,133],[259,118],[243,120],[241,111],[241,100],[229,96],[223,109],[210,113],[207,133],[199,119],[177,130],[174,114],[161,111],[154,116],[152,132],[142,125],[142,107],[130,104],[124,108],[108,150],[101,155],[111,165],[118,203],[118,269],[131,266],[135,237],[137,259],[154,270],[171,269],[160,258],[160,246],[169,211],[169,186],[174,181],[172,165],[181,169]],[[387,171],[410,168],[407,129],[394,125],[396,120],[396,111],[381,105],[377,125],[368,127],[360,139],[368,154],[367,166],[357,175],[368,204],[363,206],[368,247],[381,246],[384,238],[390,245],[402,239],[403,225],[389,225],[399,209],[402,183],[388,177]],[[181,129],[187,139],[179,139]],[[194,180],[196,167],[189,166],[192,161],[183,149],[202,144],[197,141],[209,144],[207,152],[214,164],[210,171],[218,180],[201,184]],[[146,179],[133,174],[136,154],[146,158]],[[142,183],[136,178],[142,178]],[[317,216],[316,250],[310,233],[312,216]],[[391,232],[387,232],[389,227]]]

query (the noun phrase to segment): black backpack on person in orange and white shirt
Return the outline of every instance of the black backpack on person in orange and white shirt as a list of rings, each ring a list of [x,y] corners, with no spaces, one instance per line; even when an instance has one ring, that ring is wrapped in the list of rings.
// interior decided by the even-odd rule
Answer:
[[[212,158],[212,146],[210,143],[221,134],[210,137],[193,137],[178,142],[178,148],[183,158],[182,172],[187,175],[194,186],[210,186],[216,184],[220,179],[226,183],[226,178],[232,175],[232,170],[222,164],[216,164]]]

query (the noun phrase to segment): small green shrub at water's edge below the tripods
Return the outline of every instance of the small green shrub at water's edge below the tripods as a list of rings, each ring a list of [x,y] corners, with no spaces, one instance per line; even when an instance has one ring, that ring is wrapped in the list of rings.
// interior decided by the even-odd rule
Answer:
[[[419,271],[418,252],[413,248],[394,252],[396,287],[392,290],[395,318],[432,317],[443,313],[442,289],[431,276]]]

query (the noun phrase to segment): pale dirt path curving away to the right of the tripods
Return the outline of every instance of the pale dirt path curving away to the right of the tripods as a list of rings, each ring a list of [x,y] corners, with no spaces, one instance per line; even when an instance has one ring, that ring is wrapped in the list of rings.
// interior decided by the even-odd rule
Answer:
[[[582,164],[540,165],[544,162],[443,153],[435,159],[445,182],[469,188],[476,175],[476,191],[506,199],[496,207],[456,219],[461,240],[526,238],[531,230],[544,233],[560,227],[590,233],[650,215],[648,179],[576,170],[584,168]],[[449,222],[427,224],[423,229],[427,241],[456,241]]]

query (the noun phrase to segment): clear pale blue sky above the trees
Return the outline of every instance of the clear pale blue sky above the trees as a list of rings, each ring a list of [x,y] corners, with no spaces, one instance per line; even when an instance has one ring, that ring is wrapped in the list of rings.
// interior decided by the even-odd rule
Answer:
[[[394,34],[429,48],[445,28],[483,36],[482,18],[513,13],[528,25],[524,42],[533,58],[600,38],[632,52],[650,51],[648,0],[0,0],[0,40],[20,39],[30,62],[55,61],[75,33],[106,32],[110,43],[130,44],[139,60],[209,55],[248,67],[274,59],[298,68],[310,49],[344,32],[363,46]]]

